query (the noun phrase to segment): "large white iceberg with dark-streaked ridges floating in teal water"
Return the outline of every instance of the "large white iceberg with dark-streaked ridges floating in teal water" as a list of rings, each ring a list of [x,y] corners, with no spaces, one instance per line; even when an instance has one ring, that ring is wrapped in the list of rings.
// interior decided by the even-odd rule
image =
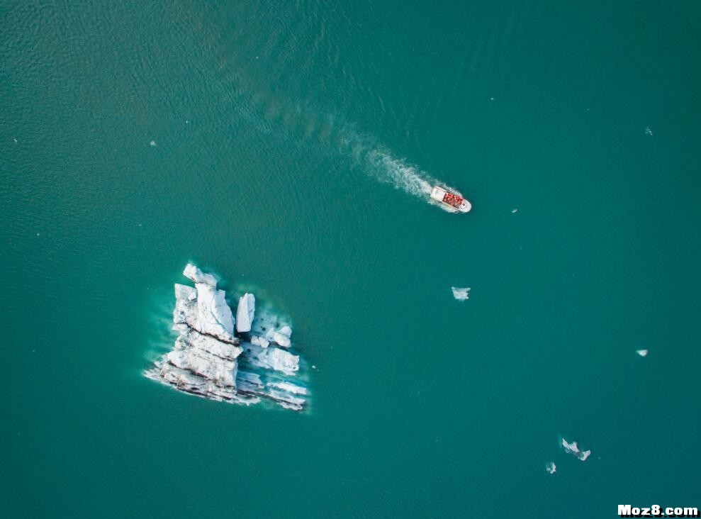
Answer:
[[[305,408],[299,356],[287,350],[291,326],[268,310],[256,316],[255,297],[248,293],[234,318],[215,277],[192,264],[183,274],[195,286],[175,284],[173,350],[144,375],[211,400],[251,405],[266,399],[294,411]]]

